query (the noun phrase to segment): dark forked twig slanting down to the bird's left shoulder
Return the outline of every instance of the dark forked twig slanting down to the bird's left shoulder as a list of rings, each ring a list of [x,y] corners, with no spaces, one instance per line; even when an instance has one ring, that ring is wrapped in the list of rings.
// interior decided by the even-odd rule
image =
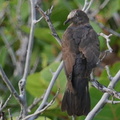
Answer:
[[[57,40],[57,42],[61,45],[61,39],[60,37],[58,36],[58,34],[56,33],[55,31],[55,28],[50,20],[50,14],[52,12],[52,9],[53,9],[53,6],[48,10],[48,13],[47,12],[44,12],[40,7],[39,5],[36,5],[36,9],[41,13],[41,15],[45,18],[51,32],[52,32],[52,35],[54,36],[54,38]]]

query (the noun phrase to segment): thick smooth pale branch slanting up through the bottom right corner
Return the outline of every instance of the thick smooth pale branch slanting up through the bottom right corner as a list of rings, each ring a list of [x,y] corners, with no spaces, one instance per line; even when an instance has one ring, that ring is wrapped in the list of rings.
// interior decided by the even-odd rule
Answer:
[[[113,79],[110,81],[108,88],[114,88],[116,83],[120,80],[120,70],[117,72],[117,74],[113,77]],[[97,105],[90,111],[90,113],[87,115],[85,120],[93,120],[95,115],[104,107],[104,105],[107,103],[108,98],[110,97],[109,93],[104,93],[102,98],[99,100]]]

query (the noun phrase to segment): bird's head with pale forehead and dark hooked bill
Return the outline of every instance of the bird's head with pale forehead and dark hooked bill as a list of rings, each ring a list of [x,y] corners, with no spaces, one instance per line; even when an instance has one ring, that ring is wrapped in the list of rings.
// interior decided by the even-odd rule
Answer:
[[[89,22],[89,18],[85,12],[82,10],[76,9],[69,13],[67,20],[64,24],[73,23],[73,24],[85,24]]]

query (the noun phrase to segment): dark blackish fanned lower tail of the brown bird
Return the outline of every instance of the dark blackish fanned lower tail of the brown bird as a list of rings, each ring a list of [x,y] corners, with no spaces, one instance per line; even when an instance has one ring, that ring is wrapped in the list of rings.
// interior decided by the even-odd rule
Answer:
[[[69,81],[68,81],[69,82]],[[88,91],[88,78],[74,79],[72,81],[74,91],[69,85],[65,91],[61,109],[67,111],[68,115],[87,115],[90,111],[90,96]]]

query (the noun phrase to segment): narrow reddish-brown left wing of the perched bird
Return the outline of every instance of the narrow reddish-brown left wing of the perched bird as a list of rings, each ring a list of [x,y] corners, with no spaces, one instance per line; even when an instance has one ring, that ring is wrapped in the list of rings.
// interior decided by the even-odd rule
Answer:
[[[73,66],[75,64],[75,50],[74,50],[74,40],[72,38],[73,32],[71,29],[67,29],[67,31],[63,35],[62,40],[62,57],[64,61],[65,73],[68,80],[72,79],[72,71]]]

